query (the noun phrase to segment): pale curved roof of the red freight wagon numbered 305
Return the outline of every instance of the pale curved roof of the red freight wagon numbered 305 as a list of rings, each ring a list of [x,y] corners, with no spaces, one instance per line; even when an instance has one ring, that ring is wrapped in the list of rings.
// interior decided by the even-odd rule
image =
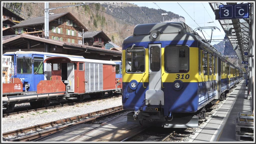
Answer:
[[[51,63],[52,60],[56,58],[67,58],[71,62],[78,62],[82,61],[85,63],[99,63],[99,64],[109,64],[109,65],[115,65],[113,61],[110,60],[97,60],[97,59],[86,59],[86,58],[77,58],[77,57],[66,57],[66,56],[54,56],[54,57],[49,57],[44,60],[45,63]]]

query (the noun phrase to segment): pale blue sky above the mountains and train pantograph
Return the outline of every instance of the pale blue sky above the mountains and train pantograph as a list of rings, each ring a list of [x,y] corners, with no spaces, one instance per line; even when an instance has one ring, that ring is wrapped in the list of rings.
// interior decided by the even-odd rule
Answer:
[[[215,20],[215,14],[210,7],[208,2],[131,2],[138,6],[146,6],[148,8],[155,8],[165,10],[167,12],[173,12],[179,16],[185,17],[185,23],[195,30],[198,27],[218,27],[215,29],[212,34],[212,39],[223,39],[225,32],[222,29],[218,20]],[[154,4],[156,3],[156,4]],[[164,12],[163,12],[164,13]],[[160,15],[163,17],[162,15]],[[167,17],[166,15],[164,17]],[[211,23],[209,23],[211,22]],[[211,29],[203,29],[205,32],[204,35],[199,30],[196,32],[208,40],[211,38]],[[217,44],[219,42],[211,42],[211,45]]]

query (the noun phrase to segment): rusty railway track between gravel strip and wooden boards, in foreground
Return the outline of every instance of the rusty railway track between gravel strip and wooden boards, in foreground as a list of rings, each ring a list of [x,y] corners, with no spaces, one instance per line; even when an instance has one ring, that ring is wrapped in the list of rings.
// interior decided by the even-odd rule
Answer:
[[[40,124],[40,125],[28,127],[28,128],[5,132],[2,134],[2,136],[4,137],[3,141],[33,141],[36,139],[40,140],[44,137],[51,136],[65,129],[77,126],[79,124],[95,121],[97,119],[101,119],[103,117],[112,115],[122,110],[123,110],[122,106],[117,106],[113,108],[91,112],[84,115],[79,115],[76,117],[60,119],[60,120],[48,122],[45,124]],[[101,125],[104,125],[104,124],[101,124]],[[10,136],[14,136],[14,137],[10,138]]]

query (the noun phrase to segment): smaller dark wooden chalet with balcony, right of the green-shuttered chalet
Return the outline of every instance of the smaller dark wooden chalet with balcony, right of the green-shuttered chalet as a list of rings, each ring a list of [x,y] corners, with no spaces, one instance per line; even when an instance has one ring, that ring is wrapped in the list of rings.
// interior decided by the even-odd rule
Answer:
[[[101,30],[83,33],[84,45],[105,48],[110,38]]]

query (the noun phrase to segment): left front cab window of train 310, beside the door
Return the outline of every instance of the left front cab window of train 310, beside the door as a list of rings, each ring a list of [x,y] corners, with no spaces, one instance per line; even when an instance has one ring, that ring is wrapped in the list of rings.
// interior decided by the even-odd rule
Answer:
[[[145,49],[127,48],[126,49],[126,72],[143,73],[145,71]]]

